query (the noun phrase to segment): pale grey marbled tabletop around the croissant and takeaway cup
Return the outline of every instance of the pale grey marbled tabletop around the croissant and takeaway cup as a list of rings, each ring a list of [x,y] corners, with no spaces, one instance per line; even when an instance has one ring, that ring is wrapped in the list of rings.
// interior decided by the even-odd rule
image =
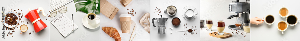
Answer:
[[[128,12],[131,11],[131,9],[134,9],[134,12],[137,12],[137,14],[134,13],[134,16],[131,16],[131,20],[133,20],[137,27],[132,35],[132,38],[134,37],[134,34],[137,34],[133,41],[150,41],[150,34],[145,31],[144,27],[140,24],[140,19],[142,16],[149,12],[150,8],[150,1],[149,0],[132,0],[126,7],[123,7],[120,3],[120,0],[107,0],[110,2],[110,4],[113,4],[113,6],[119,8],[119,12],[117,12],[116,16],[113,18],[113,20],[110,20],[105,15],[100,14],[101,18],[101,24],[100,24],[100,37],[101,41],[115,41],[112,37],[107,35],[103,30],[102,27],[113,27],[116,28],[120,34],[120,37],[122,41],[129,41],[129,38],[131,36],[131,33],[122,33],[121,31],[121,24],[120,24],[120,18],[119,16],[121,14],[128,14]],[[127,10],[129,9],[129,10]],[[151,13],[151,12],[150,12]],[[149,19],[150,21],[151,19]],[[151,25],[150,25],[151,26]],[[133,29],[131,29],[133,30]],[[132,32],[132,31],[131,31]]]

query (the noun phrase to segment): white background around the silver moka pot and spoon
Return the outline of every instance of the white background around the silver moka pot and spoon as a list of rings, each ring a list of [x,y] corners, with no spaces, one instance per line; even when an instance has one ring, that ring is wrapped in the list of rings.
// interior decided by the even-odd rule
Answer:
[[[166,22],[166,34],[157,34],[158,33],[158,26],[157,26],[157,21],[154,21],[155,26],[157,27],[153,27],[152,22],[150,22],[150,28],[151,28],[151,41],[200,41],[200,3],[199,0],[151,0],[151,8],[150,8],[150,19],[152,20],[153,18],[160,18],[160,15],[163,15],[163,17],[165,18],[169,18]],[[163,13],[163,14],[159,14],[159,12],[156,12],[157,10],[155,10],[156,7],[158,7],[161,10],[161,12],[164,12],[164,10],[167,9],[168,6],[173,5],[176,7],[177,9],[177,13],[175,16],[171,17],[169,16],[167,13]],[[182,10],[184,7],[186,6],[193,6],[197,9],[198,12],[198,16],[196,17],[195,20],[193,21],[187,21],[182,17]],[[153,13],[155,12],[155,13]],[[178,17],[181,20],[181,23],[179,24],[178,27],[173,26],[172,24],[172,19]],[[183,26],[183,24],[186,24],[185,26]],[[176,31],[176,30],[188,30],[187,28],[183,28],[183,27],[188,27],[189,29],[191,28],[191,26],[196,28],[193,29],[197,29],[193,35],[191,35],[190,33],[188,33],[187,31]],[[169,29],[170,27],[173,28],[173,30]],[[172,34],[170,32],[173,32]],[[187,34],[184,35],[184,32],[186,32]],[[197,33],[197,34],[196,34]]]

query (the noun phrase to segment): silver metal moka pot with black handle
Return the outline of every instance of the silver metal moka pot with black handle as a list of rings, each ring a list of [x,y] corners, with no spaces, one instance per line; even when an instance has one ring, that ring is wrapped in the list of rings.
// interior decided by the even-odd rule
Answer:
[[[162,18],[163,15],[161,15],[161,18],[153,18],[152,19],[152,24],[153,27],[156,27],[154,25],[154,20],[157,20],[157,25],[158,25],[158,33],[157,34],[166,34],[166,21],[168,20],[168,18]]]

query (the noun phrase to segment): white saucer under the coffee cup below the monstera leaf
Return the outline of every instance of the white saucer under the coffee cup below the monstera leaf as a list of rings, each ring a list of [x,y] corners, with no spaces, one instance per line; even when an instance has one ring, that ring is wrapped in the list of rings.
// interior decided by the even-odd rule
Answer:
[[[89,24],[88,21],[87,21],[87,16],[88,15],[85,15],[82,18],[82,24],[83,24],[83,26],[85,26],[88,29],[96,29],[96,28],[98,28],[100,26],[100,23],[98,23],[98,24],[97,23],[95,23],[95,24]],[[98,20],[98,21],[100,21],[100,20]]]

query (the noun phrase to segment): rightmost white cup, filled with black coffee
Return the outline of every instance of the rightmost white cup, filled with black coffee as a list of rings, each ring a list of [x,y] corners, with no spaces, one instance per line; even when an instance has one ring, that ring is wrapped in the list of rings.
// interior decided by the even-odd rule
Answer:
[[[286,22],[289,24],[289,26],[295,26],[298,23],[298,18],[296,15],[289,15],[286,17]]]

